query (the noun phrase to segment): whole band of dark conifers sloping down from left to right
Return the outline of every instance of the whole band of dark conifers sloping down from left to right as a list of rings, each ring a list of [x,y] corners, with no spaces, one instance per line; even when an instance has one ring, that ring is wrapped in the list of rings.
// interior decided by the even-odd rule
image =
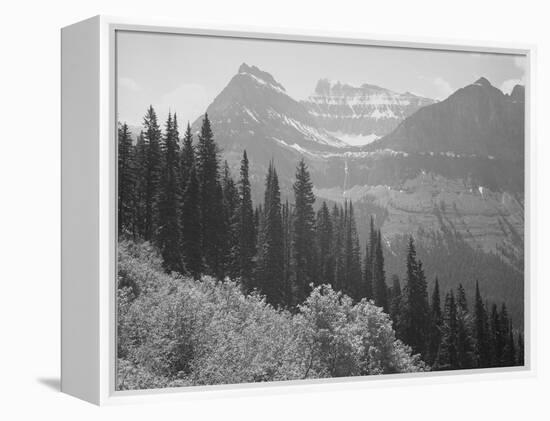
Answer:
[[[119,236],[154,244],[167,272],[240,279],[244,292],[257,290],[274,307],[290,310],[312,286],[330,284],[390,314],[397,337],[435,369],[523,364],[522,338],[514,342],[504,305],[489,312],[489,304],[476,299],[471,315],[460,287],[456,297],[453,291],[446,295],[441,309],[437,280],[429,302],[412,237],[403,291],[397,276],[388,287],[374,218],[361,256],[353,204],[329,208],[323,202],[315,212],[303,159],[296,167],[293,203],[282,201],[270,162],[263,203],[254,206],[246,151],[235,180],[221,160],[208,115],[196,143],[189,124],[180,140],[175,114],[168,115],[163,132],[153,107],[136,142],[126,124],[119,125],[118,138]]]

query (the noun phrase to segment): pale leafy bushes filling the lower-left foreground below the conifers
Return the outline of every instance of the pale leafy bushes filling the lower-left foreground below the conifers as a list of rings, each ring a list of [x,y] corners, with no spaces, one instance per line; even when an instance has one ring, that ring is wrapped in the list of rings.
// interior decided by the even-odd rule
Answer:
[[[132,242],[119,244],[118,286],[119,390],[425,369],[380,308],[329,286],[291,314],[232,281],[165,274]]]

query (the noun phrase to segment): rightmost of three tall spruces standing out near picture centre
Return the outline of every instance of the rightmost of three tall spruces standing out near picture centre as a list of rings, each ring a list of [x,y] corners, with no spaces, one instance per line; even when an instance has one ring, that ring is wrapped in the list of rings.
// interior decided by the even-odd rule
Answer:
[[[293,186],[294,237],[293,254],[295,264],[294,294],[297,303],[307,296],[309,284],[315,282],[316,256],[312,245],[315,243],[315,212],[313,204],[313,183],[311,182],[307,165],[303,159],[296,168],[296,181]]]

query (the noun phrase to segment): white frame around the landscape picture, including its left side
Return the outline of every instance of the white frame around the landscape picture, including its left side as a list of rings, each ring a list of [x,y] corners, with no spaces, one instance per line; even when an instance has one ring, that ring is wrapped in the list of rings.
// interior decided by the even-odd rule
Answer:
[[[116,32],[394,46],[521,54],[527,58],[525,110],[525,366],[460,372],[399,374],[279,383],[115,391],[116,283]],[[533,376],[535,282],[530,257],[534,133],[532,45],[386,38],[365,34],[276,28],[186,25],[150,19],[96,16],[61,31],[62,51],[62,320],[61,390],[97,405],[215,396],[335,390],[393,384],[442,383],[473,378]],[[472,377],[474,376],[474,377]]]

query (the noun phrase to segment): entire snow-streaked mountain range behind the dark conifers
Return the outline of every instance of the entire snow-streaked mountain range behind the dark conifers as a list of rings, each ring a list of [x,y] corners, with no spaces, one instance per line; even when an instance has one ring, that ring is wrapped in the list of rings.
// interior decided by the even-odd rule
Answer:
[[[431,262],[428,278],[447,270],[441,260],[456,254],[441,257],[439,251],[470,247],[470,260],[454,261],[458,266],[450,265],[453,273],[444,278],[456,278],[457,271],[469,276],[468,268],[475,267],[499,279],[493,299],[503,299],[503,291],[522,296],[523,87],[505,95],[482,78],[433,102],[370,85],[322,81],[312,98],[298,102],[272,75],[243,64],[208,107],[234,176],[247,151],[255,203],[263,200],[271,160],[281,196],[292,201],[296,164],[304,158],[316,206],[353,200],[362,238],[369,215],[377,214],[389,271],[401,272],[396,247],[403,235],[414,234],[419,255]],[[201,120],[193,124],[195,132]],[[373,133],[385,135],[363,146],[350,146],[343,136]],[[521,300],[510,303],[519,317]]]

